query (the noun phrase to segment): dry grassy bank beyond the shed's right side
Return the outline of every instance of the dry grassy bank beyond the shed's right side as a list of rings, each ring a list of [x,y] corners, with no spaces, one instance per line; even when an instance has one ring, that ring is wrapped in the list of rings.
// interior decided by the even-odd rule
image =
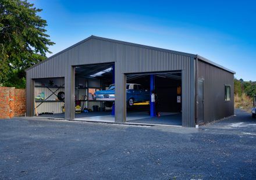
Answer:
[[[251,113],[251,108],[253,107],[253,98],[247,96],[246,93],[242,93],[241,96],[236,94],[234,95],[234,107]]]

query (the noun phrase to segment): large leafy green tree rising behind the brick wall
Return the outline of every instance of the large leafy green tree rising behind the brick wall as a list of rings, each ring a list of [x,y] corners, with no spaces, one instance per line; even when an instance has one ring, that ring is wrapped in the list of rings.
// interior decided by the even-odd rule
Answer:
[[[0,0],[0,85],[12,86],[11,78],[24,84],[24,70],[51,53],[48,46],[55,43],[45,34],[41,10],[27,0]]]

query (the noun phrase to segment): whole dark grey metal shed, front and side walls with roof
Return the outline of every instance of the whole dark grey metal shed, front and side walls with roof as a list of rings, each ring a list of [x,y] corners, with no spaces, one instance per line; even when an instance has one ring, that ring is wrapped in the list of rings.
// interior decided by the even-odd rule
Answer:
[[[35,114],[35,82],[62,78],[65,119],[74,119],[75,67],[115,65],[115,122],[126,123],[126,80],[130,74],[180,72],[182,125],[195,127],[234,114],[234,71],[204,57],[91,36],[26,71],[27,116]]]

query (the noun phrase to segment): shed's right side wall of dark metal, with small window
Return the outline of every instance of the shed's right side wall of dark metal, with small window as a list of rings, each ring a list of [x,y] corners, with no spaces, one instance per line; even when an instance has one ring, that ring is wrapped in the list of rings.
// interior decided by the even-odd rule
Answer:
[[[204,79],[204,123],[234,114],[234,74],[198,60],[198,78]],[[225,102],[225,84],[231,85],[231,99]]]

